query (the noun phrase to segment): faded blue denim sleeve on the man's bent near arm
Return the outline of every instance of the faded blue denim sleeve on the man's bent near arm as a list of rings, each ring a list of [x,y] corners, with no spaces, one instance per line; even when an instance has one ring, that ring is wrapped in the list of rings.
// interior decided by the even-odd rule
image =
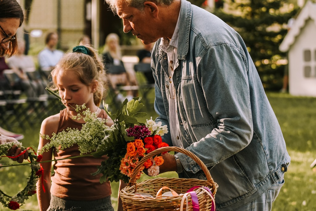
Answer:
[[[248,65],[245,53],[229,43],[210,47],[196,62],[197,81],[202,90],[195,91],[197,96],[204,96],[204,106],[217,126],[207,128],[208,134],[186,149],[210,167],[241,151],[252,139]],[[179,158],[186,171],[200,170],[191,158],[180,154]]]

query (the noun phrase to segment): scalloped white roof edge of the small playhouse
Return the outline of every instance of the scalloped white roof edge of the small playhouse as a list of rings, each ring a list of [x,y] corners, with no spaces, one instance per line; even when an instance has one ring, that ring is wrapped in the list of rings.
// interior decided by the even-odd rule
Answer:
[[[307,1],[297,18],[295,19],[288,34],[284,37],[279,49],[282,52],[289,50],[290,46],[295,42],[295,38],[300,34],[301,28],[305,26],[308,19],[312,19],[316,25],[316,3]]]

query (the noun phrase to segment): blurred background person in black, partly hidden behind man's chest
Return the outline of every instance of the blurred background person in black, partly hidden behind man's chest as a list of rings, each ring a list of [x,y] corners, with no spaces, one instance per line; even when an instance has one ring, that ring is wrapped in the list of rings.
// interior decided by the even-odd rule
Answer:
[[[155,83],[155,79],[153,77],[153,71],[150,68],[150,56],[151,56],[151,51],[153,49],[153,46],[154,46],[154,42],[149,43],[149,44],[144,44],[144,48],[137,52],[139,63],[149,64],[148,70],[143,71],[144,76],[146,77],[149,84]]]

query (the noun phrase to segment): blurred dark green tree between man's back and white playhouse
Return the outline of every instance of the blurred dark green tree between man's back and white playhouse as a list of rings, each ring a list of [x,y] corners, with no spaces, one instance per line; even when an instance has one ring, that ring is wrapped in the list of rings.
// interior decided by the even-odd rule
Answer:
[[[287,33],[287,22],[298,7],[286,0],[226,0],[229,9],[213,12],[244,39],[266,90],[282,88],[286,53],[279,45]],[[225,8],[225,7],[224,7]]]

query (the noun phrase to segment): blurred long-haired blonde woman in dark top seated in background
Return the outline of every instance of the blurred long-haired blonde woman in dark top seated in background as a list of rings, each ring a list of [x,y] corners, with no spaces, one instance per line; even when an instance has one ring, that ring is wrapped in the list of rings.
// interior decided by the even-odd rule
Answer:
[[[123,102],[125,98],[128,100],[133,99],[132,90],[127,91],[126,97],[124,97],[119,91],[117,91],[118,85],[136,85],[136,78],[131,77],[125,70],[121,48],[119,46],[119,36],[115,33],[108,34],[105,39],[104,51],[102,53],[104,66],[107,71],[107,80],[115,90],[116,98],[115,100]]]

